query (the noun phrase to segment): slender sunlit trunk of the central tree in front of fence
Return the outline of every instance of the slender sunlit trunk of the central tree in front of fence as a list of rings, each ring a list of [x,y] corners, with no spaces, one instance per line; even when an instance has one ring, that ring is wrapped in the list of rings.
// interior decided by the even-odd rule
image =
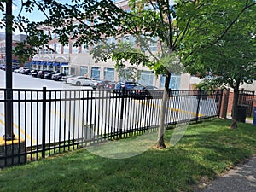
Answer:
[[[164,141],[164,133],[165,133],[165,121],[166,121],[166,106],[169,98],[169,84],[171,79],[171,73],[166,76],[164,94],[162,99],[162,104],[160,108],[160,122],[159,122],[159,131],[157,138],[157,148],[166,148],[166,144]]]

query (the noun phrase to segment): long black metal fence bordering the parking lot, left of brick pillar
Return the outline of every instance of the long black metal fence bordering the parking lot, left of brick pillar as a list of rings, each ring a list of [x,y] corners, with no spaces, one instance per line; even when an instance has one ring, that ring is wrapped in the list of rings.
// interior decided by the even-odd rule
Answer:
[[[38,160],[106,139],[157,131],[163,90],[0,90],[0,167]],[[169,90],[166,125],[218,117],[222,90]],[[4,107],[12,103],[13,126],[5,126]]]

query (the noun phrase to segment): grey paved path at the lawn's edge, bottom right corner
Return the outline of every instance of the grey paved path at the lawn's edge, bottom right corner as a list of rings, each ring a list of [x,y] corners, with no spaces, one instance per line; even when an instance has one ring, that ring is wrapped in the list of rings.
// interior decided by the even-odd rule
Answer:
[[[253,192],[256,191],[256,156],[242,166],[235,167],[212,181],[201,192]]]

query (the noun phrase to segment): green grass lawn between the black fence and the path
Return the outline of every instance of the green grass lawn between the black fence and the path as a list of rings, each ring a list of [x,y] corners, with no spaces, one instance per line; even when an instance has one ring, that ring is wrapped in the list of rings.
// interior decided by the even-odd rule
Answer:
[[[82,148],[5,168],[0,191],[192,191],[255,154],[256,126],[238,124],[230,130],[230,124],[214,119],[189,125],[174,147],[168,145],[172,130],[166,130],[166,149],[150,148],[126,159],[108,159]]]

